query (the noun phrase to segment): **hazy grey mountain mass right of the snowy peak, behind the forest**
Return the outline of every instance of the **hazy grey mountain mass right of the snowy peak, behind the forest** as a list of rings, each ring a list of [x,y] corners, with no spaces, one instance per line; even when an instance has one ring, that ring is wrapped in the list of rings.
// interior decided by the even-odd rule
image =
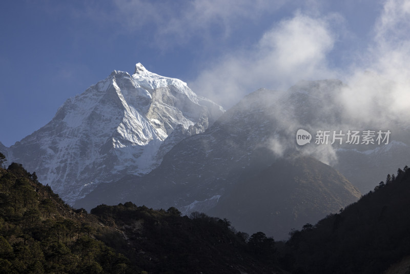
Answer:
[[[131,200],[154,208],[176,206],[184,213],[229,217],[238,229],[259,228],[283,239],[290,229],[356,201],[357,188],[370,190],[391,164],[408,157],[408,144],[395,140],[373,147],[296,144],[298,128],[313,133],[343,123],[343,108],[334,94],[344,87],[338,80],[325,80],[302,81],[287,92],[257,90],[206,132],[175,145],[149,174],[102,184],[75,205],[91,208]],[[393,152],[394,159],[388,156]],[[346,159],[363,155],[367,162],[356,162],[354,168],[355,162]],[[376,165],[372,159],[378,159]],[[323,162],[351,170],[350,177]],[[375,168],[384,172],[381,177]]]

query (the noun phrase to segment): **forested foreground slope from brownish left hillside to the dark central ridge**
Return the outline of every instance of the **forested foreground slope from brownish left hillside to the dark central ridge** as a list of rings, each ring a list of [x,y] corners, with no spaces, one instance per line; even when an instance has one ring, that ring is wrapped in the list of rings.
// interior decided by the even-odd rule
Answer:
[[[0,168],[0,273],[285,273],[273,239],[246,243],[228,220],[130,202],[92,213],[22,165]]]

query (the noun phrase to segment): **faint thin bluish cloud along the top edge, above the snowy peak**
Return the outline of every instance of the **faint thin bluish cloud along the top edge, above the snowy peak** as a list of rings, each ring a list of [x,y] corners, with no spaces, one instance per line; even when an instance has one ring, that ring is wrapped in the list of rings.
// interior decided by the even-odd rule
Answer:
[[[240,20],[257,21],[276,11],[287,0],[194,0],[189,2],[115,0],[116,21],[129,32],[153,28],[157,46],[185,44],[193,37],[215,40],[229,36]],[[217,29],[217,31],[215,31]]]

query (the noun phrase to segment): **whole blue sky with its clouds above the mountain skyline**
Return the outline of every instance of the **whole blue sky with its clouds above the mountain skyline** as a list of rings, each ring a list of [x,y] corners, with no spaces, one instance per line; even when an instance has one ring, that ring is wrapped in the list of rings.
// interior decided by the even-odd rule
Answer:
[[[348,82],[369,69],[396,77],[410,56],[408,1],[16,0],[0,7],[6,146],[47,124],[69,97],[114,69],[132,73],[138,62],[229,108],[260,87],[286,89],[301,79]],[[385,62],[392,52],[394,68]]]

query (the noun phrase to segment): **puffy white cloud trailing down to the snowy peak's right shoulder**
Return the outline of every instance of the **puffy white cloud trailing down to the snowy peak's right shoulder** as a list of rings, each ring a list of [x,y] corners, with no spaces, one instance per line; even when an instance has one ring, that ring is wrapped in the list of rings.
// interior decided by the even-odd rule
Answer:
[[[250,50],[230,53],[190,86],[225,107],[257,88],[283,89],[304,79],[334,77],[326,55],[335,43],[329,18],[297,12],[265,32]]]

